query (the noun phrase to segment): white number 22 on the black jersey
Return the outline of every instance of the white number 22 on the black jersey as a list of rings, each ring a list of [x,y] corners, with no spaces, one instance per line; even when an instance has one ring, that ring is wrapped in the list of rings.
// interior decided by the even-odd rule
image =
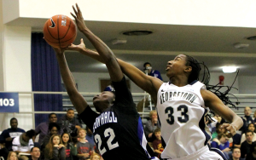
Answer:
[[[110,128],[105,129],[105,131],[104,131],[104,136],[105,136],[105,137],[108,137],[108,136],[109,136],[109,138],[108,138],[108,140],[107,140],[107,145],[108,145],[108,149],[109,149],[109,150],[112,150],[113,148],[116,148],[116,147],[119,146],[119,143],[118,143],[118,142],[112,144],[112,141],[113,141],[113,139],[114,139],[114,137],[115,137],[115,134],[113,133],[113,129],[110,129]],[[105,147],[103,147],[102,150],[101,150],[101,146],[102,146],[102,139],[101,139],[101,136],[100,136],[99,134],[96,134],[96,135],[94,136],[94,140],[95,140],[96,143],[98,144],[97,146],[98,146],[98,149],[99,149],[101,155],[103,155],[107,150],[106,150]]]

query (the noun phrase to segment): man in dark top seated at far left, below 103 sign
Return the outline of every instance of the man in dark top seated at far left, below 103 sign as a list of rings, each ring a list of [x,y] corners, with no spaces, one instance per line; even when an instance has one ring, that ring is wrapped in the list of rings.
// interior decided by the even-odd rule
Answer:
[[[18,128],[18,120],[15,117],[10,119],[10,126],[10,129],[3,130],[0,135],[0,143],[5,143],[5,147],[12,151],[13,140],[15,137],[20,136],[20,134],[25,133],[25,130]]]

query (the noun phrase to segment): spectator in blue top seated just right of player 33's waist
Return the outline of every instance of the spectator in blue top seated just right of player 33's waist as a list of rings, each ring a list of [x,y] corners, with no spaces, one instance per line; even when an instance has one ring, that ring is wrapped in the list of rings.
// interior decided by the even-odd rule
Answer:
[[[213,148],[218,148],[220,151],[222,151],[229,159],[229,154],[230,154],[230,142],[229,138],[226,136],[226,134],[218,134],[218,139],[213,139],[211,143],[211,147]]]

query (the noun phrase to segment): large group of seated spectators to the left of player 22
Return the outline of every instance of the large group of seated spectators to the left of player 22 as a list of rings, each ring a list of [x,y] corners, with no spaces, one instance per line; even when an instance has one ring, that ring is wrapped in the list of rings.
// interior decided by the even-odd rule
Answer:
[[[50,113],[48,121],[39,123],[36,129],[18,128],[15,117],[10,119],[10,126],[0,135],[0,157],[4,160],[102,159],[91,130],[82,128],[73,109],[68,109],[59,120],[55,113]]]

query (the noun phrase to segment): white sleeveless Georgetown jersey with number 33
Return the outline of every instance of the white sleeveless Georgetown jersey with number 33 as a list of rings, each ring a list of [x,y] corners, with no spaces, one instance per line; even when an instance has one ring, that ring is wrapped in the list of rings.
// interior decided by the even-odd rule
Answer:
[[[160,119],[163,146],[162,158],[184,157],[207,145],[204,116],[207,107],[201,96],[203,83],[195,81],[183,87],[163,83],[157,94],[157,113]]]

